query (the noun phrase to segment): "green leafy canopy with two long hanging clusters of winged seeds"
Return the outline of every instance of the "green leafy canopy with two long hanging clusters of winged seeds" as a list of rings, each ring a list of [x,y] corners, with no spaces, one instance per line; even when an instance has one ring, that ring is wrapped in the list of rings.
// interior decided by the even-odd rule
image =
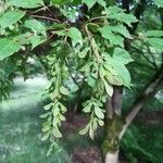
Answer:
[[[42,54],[39,59],[50,80],[47,93],[51,98],[45,106],[47,113],[40,116],[46,118],[42,140],[49,138],[51,145],[62,137],[65,101],[72,93],[67,80],[77,76],[77,83],[84,80],[90,88],[90,99],[83,103],[83,112],[90,115],[90,121],[80,134],[89,131],[93,139],[98,126],[104,125],[103,106],[108,96],[113,96],[113,86],[131,88],[133,74],[127,68],[134,61],[131,49],[152,53],[152,59],[153,53],[161,54],[163,49],[162,30],[143,28],[137,35],[130,33],[138,18],[123,10],[118,1],[7,0],[1,3],[4,8],[0,10],[0,63],[14,57],[23,60],[24,53],[27,61],[38,55],[39,50]],[[134,8],[137,3],[133,3]],[[162,0],[149,1],[149,5],[156,10],[163,7]],[[127,48],[126,40],[131,48]],[[3,67],[0,72],[4,75]],[[14,74],[13,68],[11,80]],[[8,76],[0,79],[2,86],[8,85]],[[7,88],[2,92],[5,96]]]

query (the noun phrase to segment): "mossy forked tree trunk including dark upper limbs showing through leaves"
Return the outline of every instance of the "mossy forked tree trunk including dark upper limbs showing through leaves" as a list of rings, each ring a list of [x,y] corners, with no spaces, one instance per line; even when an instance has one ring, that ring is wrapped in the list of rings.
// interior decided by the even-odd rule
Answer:
[[[138,4],[135,16],[139,20],[141,15],[143,14],[145,8],[146,8],[146,0],[141,0]],[[129,1],[123,0],[122,1],[123,9],[126,9],[126,12],[129,13]],[[133,28],[127,27],[129,29],[130,34],[134,34],[137,29],[138,23],[133,24]],[[125,39],[125,49],[128,51],[129,43],[128,40]],[[129,117],[126,117],[126,124],[123,124],[121,120],[121,110],[122,110],[122,96],[123,96],[123,87],[114,86],[114,93],[111,99],[106,100],[106,120],[105,120],[105,137],[102,142],[102,153],[104,156],[104,163],[118,163],[118,149],[120,149],[120,141],[128,128],[129,124],[133,122],[136,114],[139,112],[139,110],[142,108],[142,104],[145,101],[148,100],[148,98],[155,95],[158,91],[158,87],[161,85],[163,78],[162,78],[162,68],[158,73],[156,76],[154,76],[154,80],[151,82],[142,91],[142,96],[136,101],[134,106],[131,108],[134,111],[129,114]],[[142,98],[142,99],[141,99]],[[128,121],[129,120],[129,121]]]

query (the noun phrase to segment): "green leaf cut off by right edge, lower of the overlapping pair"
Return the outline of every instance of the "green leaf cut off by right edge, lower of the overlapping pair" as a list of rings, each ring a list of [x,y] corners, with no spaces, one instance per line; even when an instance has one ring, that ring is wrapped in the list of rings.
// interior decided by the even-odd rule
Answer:
[[[163,39],[162,38],[148,38],[147,42],[151,45],[155,50],[163,51]]]

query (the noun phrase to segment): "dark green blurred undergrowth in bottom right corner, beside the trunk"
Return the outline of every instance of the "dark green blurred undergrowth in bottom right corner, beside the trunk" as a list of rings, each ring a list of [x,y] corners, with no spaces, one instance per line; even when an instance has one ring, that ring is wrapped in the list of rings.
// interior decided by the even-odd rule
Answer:
[[[121,152],[129,162],[161,163],[162,127],[155,124],[133,125],[121,142]],[[146,141],[148,139],[148,141]]]

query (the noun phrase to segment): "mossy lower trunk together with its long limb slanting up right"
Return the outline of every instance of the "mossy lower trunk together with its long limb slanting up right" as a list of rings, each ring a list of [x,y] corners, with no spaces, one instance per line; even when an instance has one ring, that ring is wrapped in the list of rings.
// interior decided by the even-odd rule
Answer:
[[[142,93],[137,98],[137,100],[134,102],[131,106],[131,111],[126,116],[126,123],[123,125],[121,116],[115,114],[115,105],[113,104],[116,102],[116,106],[118,105],[118,109],[122,108],[122,104],[120,104],[120,101],[122,99],[122,91],[117,91],[111,100],[110,108],[112,109],[112,117],[109,116],[105,125],[105,136],[102,142],[102,152],[104,155],[104,163],[118,163],[118,148],[120,148],[120,141],[123,138],[125,131],[127,130],[128,126],[137,115],[137,113],[140,111],[145,102],[151,97],[153,97],[160,87],[163,84],[163,65],[161,66],[160,71],[156,72],[156,74],[153,76],[151,82],[145,87],[142,90]],[[118,88],[120,90],[120,88]],[[118,100],[115,100],[117,99]],[[113,102],[114,101],[114,102]]]

